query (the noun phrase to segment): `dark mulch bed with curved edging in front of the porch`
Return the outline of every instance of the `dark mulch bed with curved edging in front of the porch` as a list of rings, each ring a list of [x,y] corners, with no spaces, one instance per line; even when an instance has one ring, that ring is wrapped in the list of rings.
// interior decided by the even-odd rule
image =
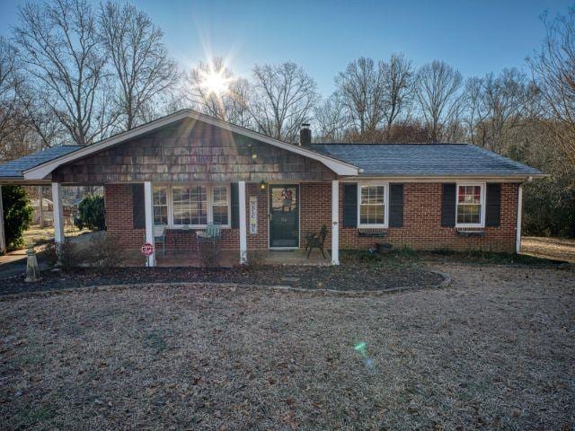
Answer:
[[[398,287],[437,286],[443,277],[420,268],[378,268],[369,265],[339,267],[261,268],[114,268],[98,271],[78,268],[65,273],[44,271],[38,283],[24,277],[4,280],[0,295],[45,292],[84,286],[137,285],[173,282],[237,283],[245,285],[293,286],[306,289],[386,290]]]

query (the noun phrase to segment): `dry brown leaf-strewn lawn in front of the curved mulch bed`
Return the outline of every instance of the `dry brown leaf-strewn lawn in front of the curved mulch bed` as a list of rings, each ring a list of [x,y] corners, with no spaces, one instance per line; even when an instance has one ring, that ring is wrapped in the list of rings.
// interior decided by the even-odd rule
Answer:
[[[0,427],[572,429],[572,269],[439,269],[451,287],[393,295],[4,301]]]

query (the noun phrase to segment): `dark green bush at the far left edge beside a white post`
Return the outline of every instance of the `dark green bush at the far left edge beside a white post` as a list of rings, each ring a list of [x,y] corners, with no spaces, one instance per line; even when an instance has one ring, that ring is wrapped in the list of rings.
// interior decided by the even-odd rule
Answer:
[[[15,250],[24,245],[23,233],[32,222],[32,207],[22,186],[2,186],[6,247]]]

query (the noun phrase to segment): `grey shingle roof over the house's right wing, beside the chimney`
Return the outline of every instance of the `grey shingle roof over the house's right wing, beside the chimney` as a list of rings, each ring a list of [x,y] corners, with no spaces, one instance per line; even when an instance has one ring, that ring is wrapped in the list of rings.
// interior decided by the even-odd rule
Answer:
[[[312,144],[309,147],[363,169],[361,175],[520,176],[543,173],[471,144]]]

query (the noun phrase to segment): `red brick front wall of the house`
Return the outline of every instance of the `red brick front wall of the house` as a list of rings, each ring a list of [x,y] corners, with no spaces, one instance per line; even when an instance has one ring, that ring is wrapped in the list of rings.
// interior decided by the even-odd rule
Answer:
[[[268,248],[268,192],[260,192],[257,183],[246,184],[246,220],[249,222],[249,198],[258,198],[258,233],[248,228],[248,249]],[[501,185],[501,225],[486,227],[483,237],[461,237],[454,228],[441,227],[441,184],[405,183],[403,188],[403,227],[389,228],[385,238],[360,238],[355,228],[343,227],[343,184],[340,184],[340,247],[367,248],[377,242],[414,249],[447,247],[454,250],[482,249],[486,251],[514,251],[517,217],[517,184]],[[117,235],[128,248],[139,248],[144,242],[144,230],[134,229],[132,221],[132,189],[129,184],[105,186],[106,225],[108,232]],[[300,223],[302,247],[305,234],[318,232],[322,224],[328,226],[325,240],[331,248],[332,183],[310,182],[300,185]],[[195,232],[179,233],[178,247],[195,248]],[[173,247],[176,235],[168,231],[166,246]],[[222,230],[220,242],[225,250],[239,249],[239,229]]]

